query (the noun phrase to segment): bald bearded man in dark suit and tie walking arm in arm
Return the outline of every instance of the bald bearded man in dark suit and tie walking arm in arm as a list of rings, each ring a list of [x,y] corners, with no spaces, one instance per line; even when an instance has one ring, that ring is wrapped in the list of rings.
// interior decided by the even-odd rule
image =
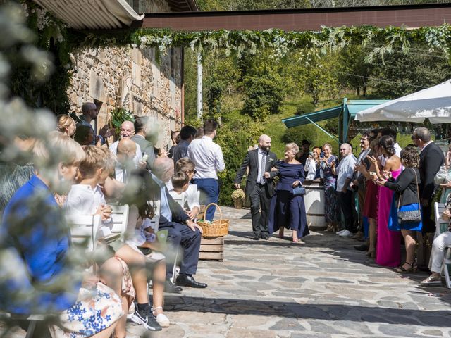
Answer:
[[[249,168],[246,180],[246,194],[251,201],[252,230],[254,230],[254,240],[269,239],[268,234],[268,210],[269,201],[273,196],[275,172],[271,172],[273,163],[276,162],[276,154],[269,151],[271,149],[271,138],[268,135],[261,135],[259,147],[247,151],[245,160],[235,177],[235,188],[240,189],[242,176]],[[261,209],[261,213],[260,213]]]

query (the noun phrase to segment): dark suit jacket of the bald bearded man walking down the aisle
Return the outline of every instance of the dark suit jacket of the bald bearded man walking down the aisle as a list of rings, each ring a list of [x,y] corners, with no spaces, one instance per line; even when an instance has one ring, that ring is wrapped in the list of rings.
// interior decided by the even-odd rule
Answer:
[[[266,156],[266,165],[264,168],[264,172],[268,171],[271,175],[270,178],[266,179],[266,184],[268,185],[268,191],[270,196],[272,196],[274,191],[274,181],[273,177],[276,176],[276,172],[271,172],[271,168],[273,164],[277,161],[276,154],[271,151],[268,152]],[[237,175],[235,177],[235,183],[241,183],[241,179],[243,175],[245,175],[246,168],[249,167],[249,174],[247,175],[246,180],[246,194],[251,194],[252,190],[254,190],[255,184],[257,184],[257,176],[259,175],[259,149],[249,150],[245,156],[245,160],[242,161],[240,169],[237,171]]]

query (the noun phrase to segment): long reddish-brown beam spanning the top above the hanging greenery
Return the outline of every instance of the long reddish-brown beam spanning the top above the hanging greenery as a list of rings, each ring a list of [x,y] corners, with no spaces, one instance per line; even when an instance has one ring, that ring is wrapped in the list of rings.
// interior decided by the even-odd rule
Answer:
[[[172,30],[320,30],[340,27],[402,25],[409,28],[434,27],[451,23],[451,4],[309,8],[265,11],[147,13],[132,27]]]

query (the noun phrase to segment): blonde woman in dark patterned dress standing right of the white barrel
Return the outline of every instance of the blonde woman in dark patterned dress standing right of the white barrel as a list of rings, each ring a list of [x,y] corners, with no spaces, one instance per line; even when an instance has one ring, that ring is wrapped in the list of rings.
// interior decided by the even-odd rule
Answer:
[[[332,167],[338,165],[338,157],[332,154],[332,146],[329,143],[323,145],[323,156],[319,161],[324,182],[324,216],[328,225],[326,231],[336,231],[340,221],[340,206],[335,192],[337,175],[333,174]]]

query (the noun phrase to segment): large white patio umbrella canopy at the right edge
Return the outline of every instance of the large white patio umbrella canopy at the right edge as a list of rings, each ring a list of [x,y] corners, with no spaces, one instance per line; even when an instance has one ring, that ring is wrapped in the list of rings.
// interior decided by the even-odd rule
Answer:
[[[360,111],[355,120],[451,123],[451,80]]]

